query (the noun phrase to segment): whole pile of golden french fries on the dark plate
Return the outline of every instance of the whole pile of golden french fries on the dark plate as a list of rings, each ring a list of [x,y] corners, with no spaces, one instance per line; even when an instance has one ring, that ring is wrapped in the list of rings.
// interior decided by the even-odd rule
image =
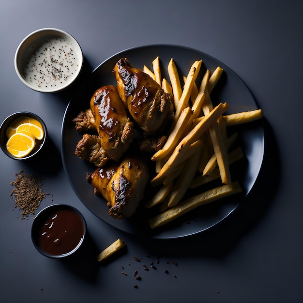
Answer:
[[[223,197],[242,192],[239,182],[232,182],[229,165],[243,157],[241,147],[231,150],[237,133],[227,137],[227,127],[255,121],[263,117],[261,109],[224,115],[227,103],[213,106],[211,93],[223,69],[217,67],[212,75],[207,69],[199,87],[196,84],[202,60],[195,61],[184,86],[171,59],[167,66],[170,84],[161,76],[159,57],[143,71],[155,79],[174,99],[175,115],[164,147],[155,152],[156,175],[151,180],[160,189],[145,204],[147,208],[160,205],[159,214],[149,220],[151,228],[171,222],[182,214]],[[197,188],[216,179],[222,185],[183,199],[190,188]]]

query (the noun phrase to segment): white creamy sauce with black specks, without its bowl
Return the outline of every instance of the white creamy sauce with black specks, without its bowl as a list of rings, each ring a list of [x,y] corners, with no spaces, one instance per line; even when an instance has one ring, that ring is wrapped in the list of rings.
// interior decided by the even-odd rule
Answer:
[[[49,37],[30,45],[23,61],[27,82],[36,88],[58,89],[76,76],[79,59],[70,42]]]

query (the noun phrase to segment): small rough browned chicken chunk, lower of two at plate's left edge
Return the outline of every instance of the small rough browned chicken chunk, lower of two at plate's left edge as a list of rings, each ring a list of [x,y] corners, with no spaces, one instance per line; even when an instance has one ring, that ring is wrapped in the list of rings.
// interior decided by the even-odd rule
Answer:
[[[97,135],[84,134],[76,145],[75,154],[80,159],[93,163],[96,167],[104,166],[109,160]]]

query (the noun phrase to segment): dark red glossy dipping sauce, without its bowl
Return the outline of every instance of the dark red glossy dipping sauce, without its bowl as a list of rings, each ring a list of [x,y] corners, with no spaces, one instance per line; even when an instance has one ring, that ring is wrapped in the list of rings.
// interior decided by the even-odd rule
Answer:
[[[37,240],[46,253],[59,256],[74,250],[83,237],[79,215],[70,209],[60,209],[50,212],[41,222]]]

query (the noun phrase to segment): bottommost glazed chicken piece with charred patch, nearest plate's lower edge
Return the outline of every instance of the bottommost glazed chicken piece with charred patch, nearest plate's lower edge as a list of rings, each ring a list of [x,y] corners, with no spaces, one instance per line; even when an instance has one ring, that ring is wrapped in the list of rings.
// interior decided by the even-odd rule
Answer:
[[[148,178],[148,168],[141,159],[126,157],[119,166],[97,168],[87,180],[94,193],[106,199],[109,215],[123,219],[136,212]]]

